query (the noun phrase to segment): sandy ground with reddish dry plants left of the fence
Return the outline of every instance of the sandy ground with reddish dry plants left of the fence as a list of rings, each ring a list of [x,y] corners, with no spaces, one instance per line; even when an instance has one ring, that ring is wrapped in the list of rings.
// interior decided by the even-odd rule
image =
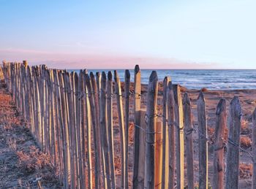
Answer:
[[[55,171],[0,82],[0,188],[61,188]]]

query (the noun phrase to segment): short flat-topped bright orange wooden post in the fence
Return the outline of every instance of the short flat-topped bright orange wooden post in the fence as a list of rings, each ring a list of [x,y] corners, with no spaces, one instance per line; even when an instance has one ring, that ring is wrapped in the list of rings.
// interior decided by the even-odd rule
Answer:
[[[154,188],[162,188],[162,122],[156,124],[156,143],[155,143],[155,164],[154,164]]]

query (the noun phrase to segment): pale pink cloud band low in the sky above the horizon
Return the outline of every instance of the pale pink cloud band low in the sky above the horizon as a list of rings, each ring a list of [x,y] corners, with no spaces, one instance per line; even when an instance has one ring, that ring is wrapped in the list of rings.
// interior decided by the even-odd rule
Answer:
[[[176,58],[132,57],[124,55],[89,55],[52,53],[40,50],[0,49],[1,60],[23,61],[31,65],[46,64],[59,69],[217,69],[217,63],[193,63]]]

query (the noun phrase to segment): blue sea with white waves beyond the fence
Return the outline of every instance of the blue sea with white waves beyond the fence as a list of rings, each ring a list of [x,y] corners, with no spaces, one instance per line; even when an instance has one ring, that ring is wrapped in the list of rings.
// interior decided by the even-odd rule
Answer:
[[[189,89],[208,88],[210,90],[256,89],[256,69],[155,69],[159,81],[169,76],[173,83]],[[73,70],[79,72],[79,70]],[[113,72],[107,69],[89,69],[88,72]],[[118,69],[121,81],[124,81],[124,69]],[[131,81],[134,70],[129,70]],[[148,84],[152,69],[141,69],[141,82]]]

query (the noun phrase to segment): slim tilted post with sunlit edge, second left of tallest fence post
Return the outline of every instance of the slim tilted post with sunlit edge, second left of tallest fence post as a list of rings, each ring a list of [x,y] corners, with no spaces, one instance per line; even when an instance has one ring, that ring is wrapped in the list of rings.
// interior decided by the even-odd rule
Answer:
[[[124,135],[124,110],[123,110],[123,101],[121,96],[121,83],[119,80],[118,73],[116,70],[114,71],[114,79],[115,79],[115,89],[116,89],[116,101],[117,101],[117,110],[118,110],[118,121],[119,121],[119,132],[121,139],[121,188],[128,188],[128,183],[125,183],[125,135]]]

